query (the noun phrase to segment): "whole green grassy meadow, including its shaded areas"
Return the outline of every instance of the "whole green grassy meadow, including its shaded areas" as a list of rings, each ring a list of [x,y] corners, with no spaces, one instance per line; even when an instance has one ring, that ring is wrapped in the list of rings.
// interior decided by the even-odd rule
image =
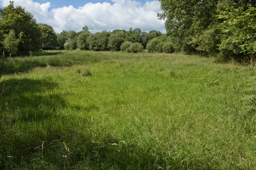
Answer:
[[[255,67],[182,54],[0,61],[0,169],[256,169]]]

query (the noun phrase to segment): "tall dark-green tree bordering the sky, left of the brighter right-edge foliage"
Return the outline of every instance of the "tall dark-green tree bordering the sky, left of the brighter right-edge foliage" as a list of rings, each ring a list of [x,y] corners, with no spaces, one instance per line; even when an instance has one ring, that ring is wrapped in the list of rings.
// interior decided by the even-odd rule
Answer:
[[[195,51],[197,44],[191,40],[217,21],[217,3],[219,0],[159,0],[162,14],[160,19],[166,19],[166,32],[170,35],[177,48],[184,52]]]

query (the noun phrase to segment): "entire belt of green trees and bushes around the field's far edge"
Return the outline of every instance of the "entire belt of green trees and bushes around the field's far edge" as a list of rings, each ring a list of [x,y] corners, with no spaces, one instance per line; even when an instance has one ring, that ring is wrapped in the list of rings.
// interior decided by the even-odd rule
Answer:
[[[166,20],[166,34],[116,29],[112,32],[81,31],[55,33],[47,24],[14,2],[0,9],[0,50],[12,55],[40,49],[112,50],[125,52],[184,52],[251,59],[256,52],[256,3],[244,1],[162,1],[160,19]],[[8,55],[6,55],[8,56]]]

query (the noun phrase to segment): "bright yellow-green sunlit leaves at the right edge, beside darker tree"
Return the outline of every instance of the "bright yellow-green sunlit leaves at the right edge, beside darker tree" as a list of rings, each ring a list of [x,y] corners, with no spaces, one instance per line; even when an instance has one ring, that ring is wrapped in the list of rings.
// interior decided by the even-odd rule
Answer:
[[[256,53],[256,7],[234,8],[226,7],[218,15],[219,19],[224,20],[223,40],[220,50],[227,55]]]

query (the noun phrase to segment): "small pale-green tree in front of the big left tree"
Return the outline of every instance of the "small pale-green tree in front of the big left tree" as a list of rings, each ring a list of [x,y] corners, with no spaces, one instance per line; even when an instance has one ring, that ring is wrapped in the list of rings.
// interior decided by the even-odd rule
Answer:
[[[5,39],[3,40],[3,45],[11,54],[15,54],[18,51],[19,40],[15,37],[15,32],[10,31],[9,34],[4,35]]]

